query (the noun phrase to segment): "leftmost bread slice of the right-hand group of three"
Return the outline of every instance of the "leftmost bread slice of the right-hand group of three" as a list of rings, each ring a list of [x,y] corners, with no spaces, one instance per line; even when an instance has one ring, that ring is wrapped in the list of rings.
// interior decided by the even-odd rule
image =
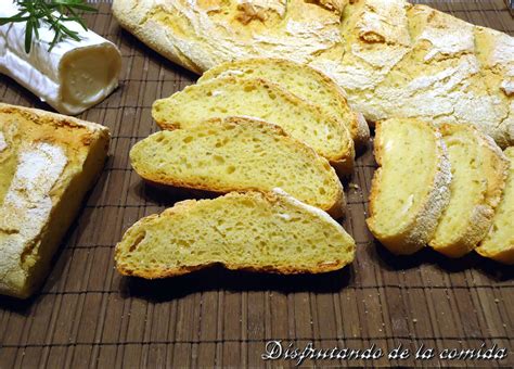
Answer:
[[[395,254],[413,254],[432,238],[447,206],[450,164],[439,131],[416,119],[378,122],[370,195],[371,232]]]

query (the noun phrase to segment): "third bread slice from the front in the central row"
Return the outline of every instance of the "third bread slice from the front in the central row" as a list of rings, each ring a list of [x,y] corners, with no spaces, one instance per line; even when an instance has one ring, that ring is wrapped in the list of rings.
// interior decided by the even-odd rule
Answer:
[[[214,117],[249,116],[275,124],[307,143],[344,173],[354,167],[348,129],[318,106],[264,79],[216,78],[187,87],[152,109],[165,129],[190,128]]]

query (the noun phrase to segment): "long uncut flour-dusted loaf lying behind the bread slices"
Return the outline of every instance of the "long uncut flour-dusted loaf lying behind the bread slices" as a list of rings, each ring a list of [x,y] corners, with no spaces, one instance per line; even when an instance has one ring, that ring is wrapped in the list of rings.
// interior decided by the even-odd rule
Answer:
[[[114,0],[120,25],[202,74],[248,58],[309,64],[370,122],[471,124],[514,144],[514,38],[404,0]]]

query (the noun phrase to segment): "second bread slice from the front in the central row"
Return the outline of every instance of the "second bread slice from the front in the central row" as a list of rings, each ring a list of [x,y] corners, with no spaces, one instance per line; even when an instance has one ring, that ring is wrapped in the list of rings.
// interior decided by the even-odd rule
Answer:
[[[343,215],[343,186],[329,162],[266,122],[214,118],[164,130],[138,142],[130,161],[152,182],[221,193],[280,187],[334,217]]]

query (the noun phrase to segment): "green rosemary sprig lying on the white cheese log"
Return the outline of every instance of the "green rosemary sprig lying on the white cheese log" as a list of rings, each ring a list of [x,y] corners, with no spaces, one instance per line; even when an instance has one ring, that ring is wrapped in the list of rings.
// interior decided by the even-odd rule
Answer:
[[[0,17],[0,26],[8,23],[26,23],[25,28],[25,52],[30,52],[33,39],[39,39],[38,29],[41,23],[49,25],[54,31],[50,48],[52,49],[65,38],[72,38],[80,41],[77,31],[66,27],[66,22],[77,22],[88,30],[86,23],[79,15],[79,12],[97,12],[97,9],[85,3],[85,0],[17,0],[20,12],[10,17]]]

